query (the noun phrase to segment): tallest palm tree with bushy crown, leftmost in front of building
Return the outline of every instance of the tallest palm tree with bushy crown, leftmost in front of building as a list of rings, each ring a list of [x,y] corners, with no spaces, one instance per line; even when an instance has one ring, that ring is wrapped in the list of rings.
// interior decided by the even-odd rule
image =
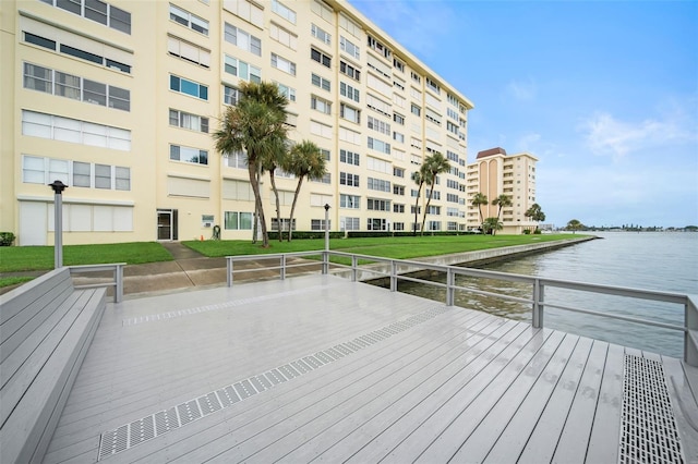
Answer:
[[[248,173],[254,193],[255,210],[262,227],[262,246],[269,246],[260,176],[265,159],[282,152],[286,143],[286,97],[273,83],[243,82],[238,105],[226,108],[220,129],[213,134],[216,149],[224,154],[242,151],[248,156]]]

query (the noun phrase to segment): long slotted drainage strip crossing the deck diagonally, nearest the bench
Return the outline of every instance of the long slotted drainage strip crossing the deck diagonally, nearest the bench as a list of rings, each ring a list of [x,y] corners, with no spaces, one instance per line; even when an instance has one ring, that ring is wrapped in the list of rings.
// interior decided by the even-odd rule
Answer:
[[[219,309],[217,305],[212,309]],[[207,309],[207,310],[212,310]],[[340,343],[338,345],[320,351],[315,354],[303,356],[299,359],[284,364],[264,374],[252,376],[237,381],[218,390],[205,393],[202,396],[185,401],[165,411],[159,411],[149,416],[133,420],[101,434],[99,439],[99,454],[97,461],[120,453],[136,444],[148,441],[155,437],[167,434],[186,424],[206,417],[217,411],[230,407],[234,403],[245,400],[275,386],[300,377],[313,369],[333,363],[357,351],[363,350],[374,343],[385,340],[393,334],[404,332],[419,323],[452,309],[448,306],[438,306],[411,316],[397,323],[392,323],[383,329],[374,330],[365,335]],[[177,317],[177,316],[171,316]],[[149,321],[142,320],[143,321]],[[133,323],[140,323],[139,321]],[[388,330],[389,328],[389,330]]]

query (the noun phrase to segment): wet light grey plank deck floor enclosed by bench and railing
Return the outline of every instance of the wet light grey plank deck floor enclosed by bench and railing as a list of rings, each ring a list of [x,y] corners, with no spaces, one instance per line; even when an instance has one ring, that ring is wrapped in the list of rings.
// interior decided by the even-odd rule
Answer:
[[[332,276],[171,293],[108,305],[44,462],[634,462],[652,373],[691,462],[697,370]]]

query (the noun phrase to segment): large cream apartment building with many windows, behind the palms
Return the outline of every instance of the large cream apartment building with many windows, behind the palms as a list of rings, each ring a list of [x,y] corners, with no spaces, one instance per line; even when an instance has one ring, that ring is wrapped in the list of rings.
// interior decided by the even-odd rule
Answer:
[[[244,154],[212,139],[241,81],[276,83],[289,137],[326,156],[296,230],[323,230],[325,204],[333,231],[411,230],[434,151],[452,170],[426,228],[468,224],[472,103],[344,0],[3,0],[0,34],[0,230],[17,245],[53,243],[55,180],[65,244],[251,237]],[[277,184],[288,218],[297,180]]]

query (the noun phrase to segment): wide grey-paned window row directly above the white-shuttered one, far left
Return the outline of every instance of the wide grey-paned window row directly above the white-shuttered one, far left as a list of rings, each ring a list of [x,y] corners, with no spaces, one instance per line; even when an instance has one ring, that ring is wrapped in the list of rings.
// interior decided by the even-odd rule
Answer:
[[[24,88],[129,111],[131,91],[37,64],[24,63]]]

